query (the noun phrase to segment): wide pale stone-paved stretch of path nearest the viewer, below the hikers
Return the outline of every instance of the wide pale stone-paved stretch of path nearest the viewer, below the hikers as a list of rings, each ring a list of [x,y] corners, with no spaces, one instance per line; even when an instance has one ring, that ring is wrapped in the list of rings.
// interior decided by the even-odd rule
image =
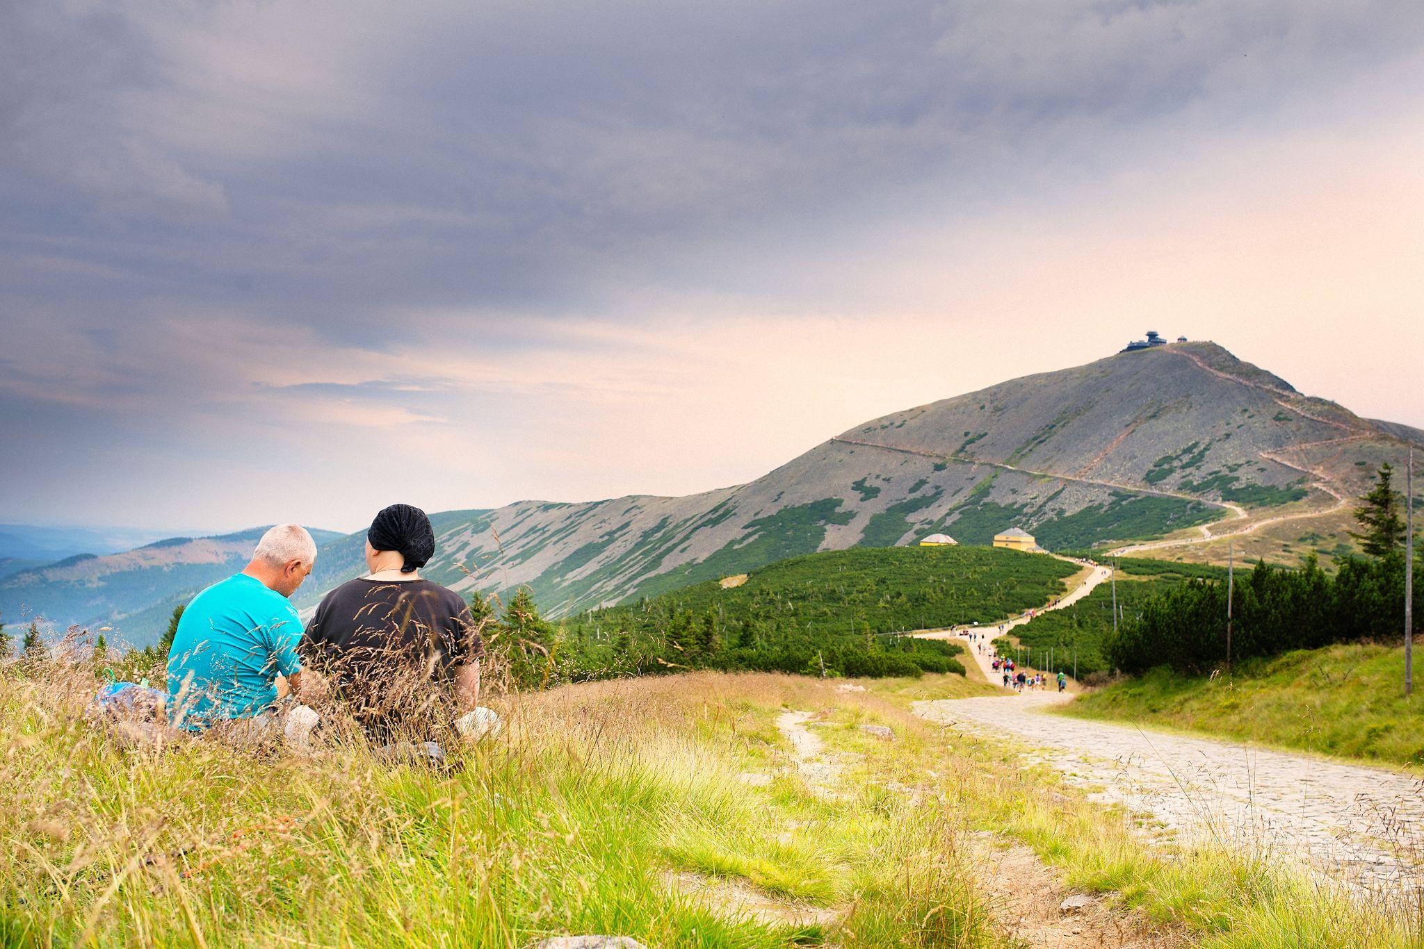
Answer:
[[[931,721],[1011,734],[1030,761],[1099,800],[1152,815],[1180,839],[1213,837],[1307,861],[1387,899],[1424,884],[1424,788],[1417,778],[1230,741],[1048,714],[1054,693],[914,703]]]

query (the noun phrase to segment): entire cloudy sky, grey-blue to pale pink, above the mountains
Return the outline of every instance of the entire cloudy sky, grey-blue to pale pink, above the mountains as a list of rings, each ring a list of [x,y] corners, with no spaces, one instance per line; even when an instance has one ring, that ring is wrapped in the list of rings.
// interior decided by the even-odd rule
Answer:
[[[1418,0],[0,4],[0,522],[686,494],[1148,329],[1424,427]]]

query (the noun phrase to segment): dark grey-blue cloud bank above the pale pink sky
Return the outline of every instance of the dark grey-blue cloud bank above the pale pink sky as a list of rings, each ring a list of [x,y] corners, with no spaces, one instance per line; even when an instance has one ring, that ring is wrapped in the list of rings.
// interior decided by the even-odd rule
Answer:
[[[629,295],[786,292],[881,222],[1310,122],[1421,36],[1413,0],[19,0],[0,396],[75,438],[444,418],[484,397],[420,347],[597,360],[631,343],[561,327],[665,316]]]

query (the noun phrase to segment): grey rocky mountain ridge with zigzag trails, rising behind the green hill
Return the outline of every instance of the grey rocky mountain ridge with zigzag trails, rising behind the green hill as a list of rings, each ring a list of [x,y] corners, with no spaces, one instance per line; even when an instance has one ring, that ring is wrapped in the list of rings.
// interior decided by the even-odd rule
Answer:
[[[799,553],[941,531],[988,544],[1020,526],[1051,549],[1149,539],[1196,559],[1216,558],[1218,546],[1225,556],[1226,538],[1249,535],[1252,555],[1293,561],[1303,529],[1324,552],[1349,549],[1347,502],[1405,442],[1424,447],[1424,433],[1302,396],[1213,343],[1175,343],[876,418],[745,485],[444,512],[427,575],[464,592],[527,583],[558,616]],[[357,575],[362,535],[326,544],[299,603]],[[41,579],[70,586],[41,599]],[[0,578],[7,620],[20,583],[47,610],[98,598],[77,578],[20,572]],[[174,585],[159,586],[152,602],[171,602]],[[112,605],[134,642],[157,635],[141,599]]]

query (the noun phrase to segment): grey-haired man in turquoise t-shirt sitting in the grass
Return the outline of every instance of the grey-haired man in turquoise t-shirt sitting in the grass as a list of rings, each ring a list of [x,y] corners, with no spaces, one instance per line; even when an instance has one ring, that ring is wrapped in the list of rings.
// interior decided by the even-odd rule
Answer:
[[[241,573],[198,593],[178,620],[168,652],[169,716],[198,731],[251,719],[276,703],[276,677],[292,691],[302,679],[302,622],[288,599],[316,563],[316,542],[295,524],[258,541]]]

